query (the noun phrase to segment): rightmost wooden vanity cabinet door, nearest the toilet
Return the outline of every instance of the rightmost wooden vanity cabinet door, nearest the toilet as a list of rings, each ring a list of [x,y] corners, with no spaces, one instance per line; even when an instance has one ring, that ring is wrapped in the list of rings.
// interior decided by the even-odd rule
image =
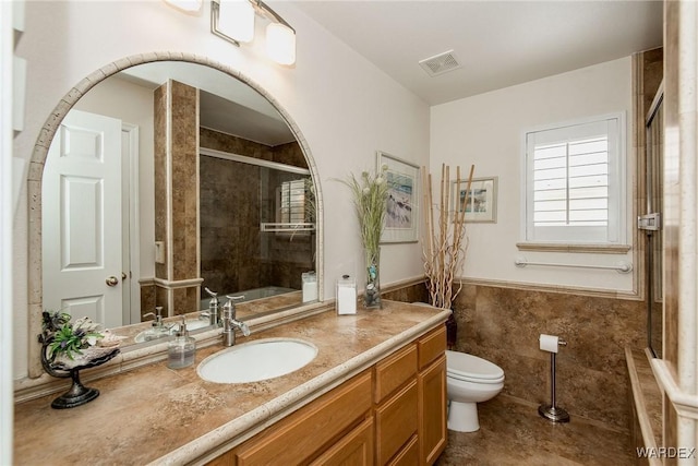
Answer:
[[[446,355],[418,375],[421,464],[434,464],[446,447]]]

